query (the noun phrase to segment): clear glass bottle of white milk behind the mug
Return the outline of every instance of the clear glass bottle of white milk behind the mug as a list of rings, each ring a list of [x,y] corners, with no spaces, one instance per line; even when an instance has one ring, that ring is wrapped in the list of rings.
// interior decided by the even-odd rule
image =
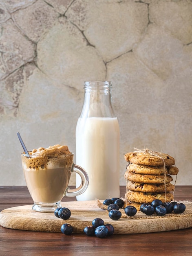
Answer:
[[[109,81],[85,81],[84,104],[76,127],[76,164],[89,177],[77,200],[119,197],[119,123],[111,103]],[[81,180],[76,175],[76,186]]]

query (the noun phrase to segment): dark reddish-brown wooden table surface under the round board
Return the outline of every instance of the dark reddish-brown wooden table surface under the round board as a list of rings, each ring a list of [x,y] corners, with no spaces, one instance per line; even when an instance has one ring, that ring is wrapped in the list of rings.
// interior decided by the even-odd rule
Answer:
[[[120,191],[121,196],[124,197],[125,186],[121,186]],[[192,186],[176,186],[174,199],[177,201],[192,200]],[[63,201],[74,200],[75,198],[63,199]],[[0,187],[0,211],[32,203],[25,186]],[[4,255],[191,256],[192,228],[97,238],[84,234],[65,236],[62,233],[22,231],[0,226],[0,256]]]

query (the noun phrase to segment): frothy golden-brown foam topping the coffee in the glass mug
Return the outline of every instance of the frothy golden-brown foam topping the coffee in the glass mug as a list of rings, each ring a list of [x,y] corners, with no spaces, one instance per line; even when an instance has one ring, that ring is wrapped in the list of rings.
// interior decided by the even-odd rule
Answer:
[[[30,151],[29,155],[30,157],[25,157],[23,162],[24,168],[28,170],[71,167],[73,164],[73,153],[69,151],[68,146],[57,144],[49,148],[40,147]]]

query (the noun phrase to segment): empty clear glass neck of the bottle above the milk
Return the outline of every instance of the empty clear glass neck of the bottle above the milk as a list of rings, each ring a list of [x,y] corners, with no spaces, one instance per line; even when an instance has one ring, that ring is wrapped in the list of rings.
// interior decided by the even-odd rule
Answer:
[[[115,117],[109,81],[86,81],[84,105],[80,117]]]

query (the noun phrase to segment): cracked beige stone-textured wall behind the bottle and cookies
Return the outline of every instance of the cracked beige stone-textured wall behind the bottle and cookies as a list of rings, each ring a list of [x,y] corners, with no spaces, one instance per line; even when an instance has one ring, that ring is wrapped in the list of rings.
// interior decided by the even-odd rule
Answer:
[[[18,131],[75,153],[85,80],[113,83],[121,185],[134,148],[172,155],[192,184],[191,0],[1,0],[0,185],[25,185]]]

